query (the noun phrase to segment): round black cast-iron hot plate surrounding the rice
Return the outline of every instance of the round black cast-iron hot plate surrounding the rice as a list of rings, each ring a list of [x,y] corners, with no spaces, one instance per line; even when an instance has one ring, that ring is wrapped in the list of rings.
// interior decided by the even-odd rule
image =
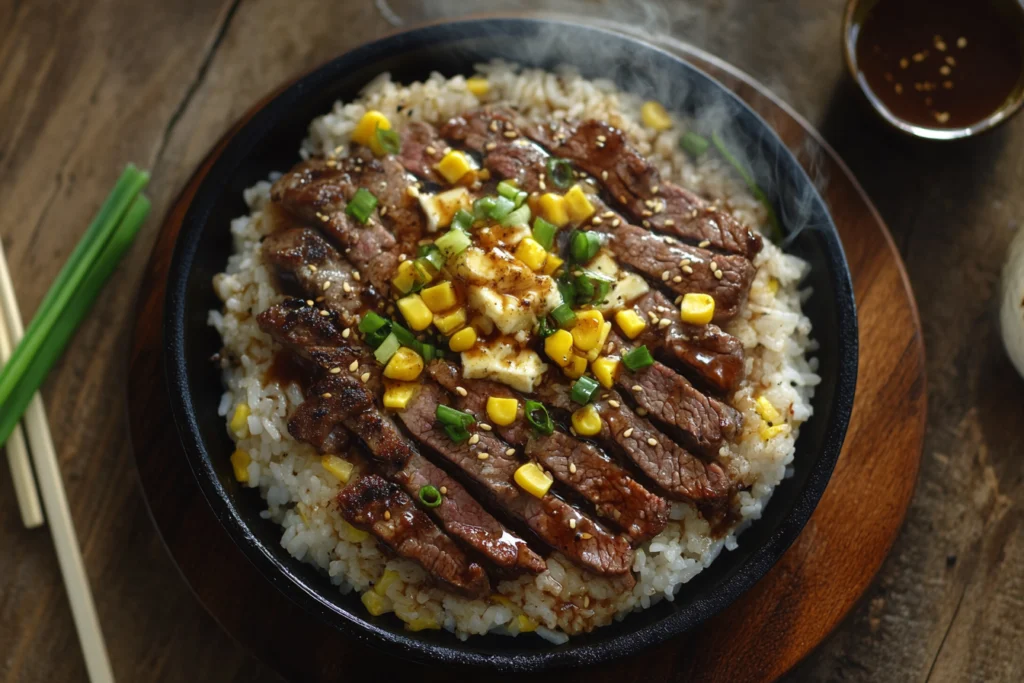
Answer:
[[[447,632],[410,633],[393,615],[370,616],[357,595],[341,595],[313,567],[292,558],[281,547],[280,527],[260,518],[264,504],[258,493],[233,479],[227,457],[232,444],[217,415],[223,389],[209,360],[220,348],[207,325],[207,311],[220,306],[211,280],[231,249],[229,221],[248,213],[243,189],[294,165],[309,122],[335,100],[356,97],[381,72],[408,82],[432,71],[469,74],[473,65],[496,57],[548,69],[570,63],[588,78],[609,78],[672,111],[693,115],[712,105],[723,113],[731,143],[762,162],[755,165],[757,181],[786,229],[802,228],[788,249],[811,264],[805,285],[813,295],[804,310],[820,344],[816,356],[822,382],[814,417],[801,428],[795,474],[739,537],[739,547],[723,552],[673,602],[560,646],[540,638],[485,636],[463,642]],[[857,376],[853,289],[836,226],[771,128],[721,84],[678,57],[620,34],[534,18],[471,19],[392,35],[328,62],[266,102],[224,146],[185,215],[170,268],[164,341],[172,410],[189,465],[220,523],[268,581],[339,635],[417,660],[502,671],[593,664],[634,652],[692,629],[738,598],[782,556],[824,492],[843,444]]]

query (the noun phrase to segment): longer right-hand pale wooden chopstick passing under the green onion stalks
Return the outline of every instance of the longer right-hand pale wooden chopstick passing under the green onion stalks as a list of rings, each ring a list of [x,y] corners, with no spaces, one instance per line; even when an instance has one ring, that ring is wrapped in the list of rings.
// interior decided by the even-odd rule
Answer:
[[[18,311],[14,288],[7,270],[7,261],[0,244],[0,313],[3,314],[11,345],[22,339],[22,314]],[[106,654],[103,634],[99,628],[96,606],[92,601],[89,589],[89,579],[82,562],[82,552],[75,537],[75,523],[68,507],[68,497],[65,494],[63,481],[60,478],[60,468],[57,463],[56,451],[53,449],[53,438],[50,435],[49,424],[46,421],[46,408],[43,399],[36,392],[33,395],[23,420],[32,449],[32,462],[36,466],[36,477],[39,490],[43,497],[43,507],[49,521],[50,535],[56,548],[57,562],[63,577],[68,600],[71,602],[71,612],[78,630],[78,639],[82,645],[85,657],[85,668],[92,683],[114,683],[114,671]],[[8,447],[10,441],[7,442]]]

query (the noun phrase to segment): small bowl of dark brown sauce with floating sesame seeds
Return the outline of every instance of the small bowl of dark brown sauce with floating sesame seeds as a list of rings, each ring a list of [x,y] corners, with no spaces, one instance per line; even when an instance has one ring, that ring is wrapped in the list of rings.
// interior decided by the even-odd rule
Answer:
[[[854,76],[907,132],[963,137],[1024,97],[1024,8],[1016,0],[878,0],[851,7],[847,20]]]

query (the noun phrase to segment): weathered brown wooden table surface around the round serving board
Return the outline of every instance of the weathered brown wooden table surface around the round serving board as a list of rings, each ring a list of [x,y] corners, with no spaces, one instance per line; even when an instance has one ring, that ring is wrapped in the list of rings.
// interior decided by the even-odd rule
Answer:
[[[470,4],[0,2],[0,237],[25,314],[123,165],[153,170],[154,214],[44,390],[119,680],[278,680],[193,598],[136,484],[126,350],[159,218],[217,137],[278,83],[398,23]],[[928,348],[918,493],[874,586],[790,679],[1019,681],[1024,380],[1002,351],[995,310],[1007,245],[1024,216],[1024,116],[953,145],[884,129],[845,77],[843,4],[712,0],[662,9],[575,0],[558,8],[671,32],[766,83],[845,158],[906,260]],[[22,527],[5,468],[0,549],[0,680],[84,681],[49,535]]]

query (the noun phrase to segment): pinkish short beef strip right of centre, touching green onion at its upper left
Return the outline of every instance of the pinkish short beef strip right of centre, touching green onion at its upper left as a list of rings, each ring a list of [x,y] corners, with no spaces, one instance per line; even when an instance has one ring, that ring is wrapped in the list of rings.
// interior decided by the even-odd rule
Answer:
[[[621,352],[632,346],[616,335],[612,339]],[[615,383],[656,421],[679,430],[689,443],[709,456],[735,436],[742,423],[735,409],[705,395],[685,377],[656,360],[649,368],[632,372],[624,369]]]

